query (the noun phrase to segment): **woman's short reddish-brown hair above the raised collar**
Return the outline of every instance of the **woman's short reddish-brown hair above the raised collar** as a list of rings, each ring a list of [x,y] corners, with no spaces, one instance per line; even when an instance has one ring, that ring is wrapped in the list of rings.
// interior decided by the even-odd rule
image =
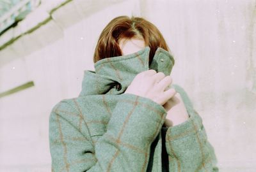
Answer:
[[[122,50],[118,45],[121,38],[144,39],[145,46],[150,47],[149,64],[158,47],[168,52],[170,50],[163,35],[154,24],[141,17],[129,18],[123,15],[113,18],[101,32],[93,55],[93,62],[122,55]]]

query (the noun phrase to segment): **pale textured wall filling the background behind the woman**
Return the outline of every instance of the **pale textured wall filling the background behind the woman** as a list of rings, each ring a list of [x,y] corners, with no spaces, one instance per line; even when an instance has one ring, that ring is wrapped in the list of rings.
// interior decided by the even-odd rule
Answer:
[[[0,171],[51,171],[52,106],[78,96],[100,32],[112,18],[132,13],[166,38],[175,58],[173,82],[202,116],[221,171],[255,171],[255,0],[90,1],[99,8],[74,12],[77,2],[0,52],[0,92],[35,83],[0,98]]]

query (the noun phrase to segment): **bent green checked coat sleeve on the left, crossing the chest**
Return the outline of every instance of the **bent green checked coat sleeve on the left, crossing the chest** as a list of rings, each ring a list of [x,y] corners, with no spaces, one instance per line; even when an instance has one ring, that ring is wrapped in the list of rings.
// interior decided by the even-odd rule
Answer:
[[[82,127],[81,131],[79,122],[70,120],[79,118],[79,111],[74,107],[63,100],[51,111],[52,171],[147,170],[150,145],[161,131],[167,114],[163,106],[146,97],[124,94],[112,111],[106,133],[95,147],[88,127]]]

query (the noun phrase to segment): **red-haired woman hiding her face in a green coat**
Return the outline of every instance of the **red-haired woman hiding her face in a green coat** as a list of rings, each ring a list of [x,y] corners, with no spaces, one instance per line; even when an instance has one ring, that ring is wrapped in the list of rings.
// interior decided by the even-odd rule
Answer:
[[[114,18],[94,62],[79,97],[52,109],[52,171],[218,171],[202,118],[171,85],[174,59],[155,25]]]

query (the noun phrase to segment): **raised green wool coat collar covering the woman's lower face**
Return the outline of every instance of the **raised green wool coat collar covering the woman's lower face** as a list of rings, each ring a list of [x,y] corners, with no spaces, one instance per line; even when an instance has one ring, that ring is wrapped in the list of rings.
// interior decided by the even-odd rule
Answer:
[[[79,96],[96,94],[122,94],[138,73],[154,69],[170,75],[174,59],[163,48],[157,48],[149,66],[150,47],[132,54],[101,59],[95,62],[95,71],[84,71],[82,90]]]

